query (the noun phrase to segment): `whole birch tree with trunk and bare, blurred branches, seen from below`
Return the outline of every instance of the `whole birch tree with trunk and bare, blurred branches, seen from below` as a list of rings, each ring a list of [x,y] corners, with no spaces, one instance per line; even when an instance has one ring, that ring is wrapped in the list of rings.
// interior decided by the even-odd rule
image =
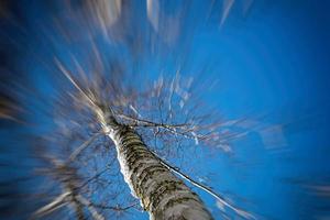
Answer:
[[[198,81],[193,77],[182,76],[180,66],[153,80],[136,76],[144,50],[155,54],[152,42],[160,41],[166,48],[164,53],[177,45],[184,11],[166,14],[160,10],[158,1],[146,1],[145,22],[151,23],[152,37],[144,38],[146,34],[136,25],[139,14],[134,14],[131,4],[101,0],[82,3],[78,10],[67,7],[69,23],[81,28],[82,34],[65,28],[66,16],[54,18],[58,35],[69,43],[87,38],[89,47],[80,52],[87,58],[74,54],[63,58],[54,52],[47,66],[61,84],[56,85],[56,98],[46,100],[53,101],[55,108],[50,116],[56,131],[43,135],[46,143],[37,151],[43,148],[45,155],[52,155],[46,156],[51,168],[42,175],[51,172],[51,182],[59,185],[59,190],[32,218],[44,218],[66,207],[77,219],[111,219],[139,209],[139,201],[151,219],[213,219],[191,186],[215,197],[234,216],[253,218],[168,162],[185,155],[185,147],[199,145],[231,154],[230,141],[241,134],[227,129],[237,121],[222,121],[200,101],[202,89],[197,89]],[[110,45],[107,50],[119,46],[129,55],[107,54],[97,43],[99,33]],[[113,164],[116,158],[119,166]],[[125,187],[114,180],[119,173],[134,198],[118,199],[118,188]]]

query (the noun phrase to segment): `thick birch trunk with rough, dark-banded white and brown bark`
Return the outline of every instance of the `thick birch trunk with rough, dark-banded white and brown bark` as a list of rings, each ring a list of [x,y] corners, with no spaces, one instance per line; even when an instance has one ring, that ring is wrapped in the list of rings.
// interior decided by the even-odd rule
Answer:
[[[134,130],[117,123],[109,111],[99,111],[98,118],[116,144],[124,180],[151,219],[212,219],[197,194],[161,164]]]

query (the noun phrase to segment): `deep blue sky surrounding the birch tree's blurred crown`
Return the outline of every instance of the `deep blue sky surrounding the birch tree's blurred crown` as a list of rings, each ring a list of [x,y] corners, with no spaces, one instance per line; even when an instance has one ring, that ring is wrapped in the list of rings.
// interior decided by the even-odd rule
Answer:
[[[64,41],[52,19],[56,14],[65,22],[70,14],[62,10],[61,3],[51,2],[11,3],[7,8],[10,15],[1,16],[0,31],[3,81],[31,84],[44,98],[56,96],[56,87],[54,74],[46,74],[50,65],[41,63],[52,62],[56,56],[70,66],[70,53],[84,61],[84,50],[90,47],[84,25],[68,22],[69,34],[76,34],[77,38],[70,44]],[[202,99],[219,110],[224,120],[246,119],[231,128],[245,133],[232,142],[233,155],[197,146],[200,156],[190,158],[194,162],[183,170],[190,172],[257,219],[330,219],[330,3],[238,0],[232,1],[223,19],[228,2],[231,1],[191,1],[189,13],[182,18],[180,35],[175,43],[168,43],[170,46],[167,40],[153,38],[145,31],[144,41],[155,41],[156,47],[151,52],[147,47],[151,44],[143,44],[150,51],[145,50],[138,61],[130,58],[132,51],[120,45],[108,48],[99,33],[95,37],[105,55],[124,59],[129,69],[141,72],[142,79],[157,78],[161,73],[173,76],[179,66],[184,76],[200,81]],[[170,1],[164,4],[164,10],[175,14],[180,4]],[[146,24],[145,3],[135,2],[134,7],[135,23],[128,24],[131,31],[152,29],[152,24]],[[169,26],[175,29],[175,23]],[[169,28],[162,29],[169,33]],[[124,36],[128,42],[139,37],[131,32]],[[1,89],[13,94],[3,85]],[[52,108],[51,103],[35,98],[24,100],[24,105],[30,107],[30,120],[47,121],[41,112]],[[15,136],[51,128],[26,131],[6,121],[1,125],[3,164],[7,161],[15,164],[19,155],[24,158],[23,140]],[[34,162],[26,163],[33,166]],[[2,169],[3,179],[26,172]],[[8,191],[6,187],[2,184],[3,191]],[[216,219],[221,219],[216,200],[196,190]],[[143,213],[132,215],[136,219],[147,218]]]

